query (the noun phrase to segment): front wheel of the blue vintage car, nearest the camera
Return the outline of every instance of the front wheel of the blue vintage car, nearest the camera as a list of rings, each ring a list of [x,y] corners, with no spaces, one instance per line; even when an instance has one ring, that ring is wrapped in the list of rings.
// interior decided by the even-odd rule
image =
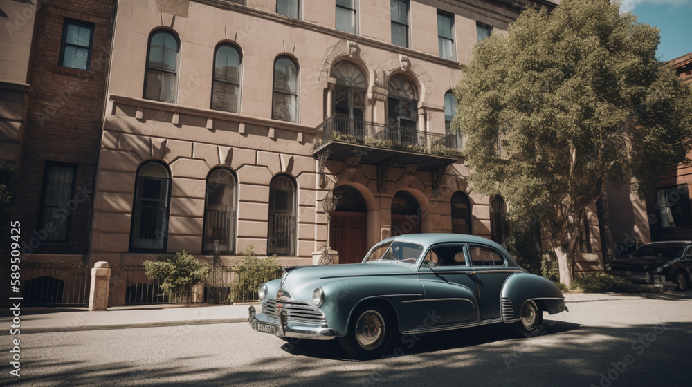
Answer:
[[[358,308],[353,314],[349,330],[341,337],[341,346],[349,355],[372,358],[382,354],[392,340],[392,319],[376,305]]]

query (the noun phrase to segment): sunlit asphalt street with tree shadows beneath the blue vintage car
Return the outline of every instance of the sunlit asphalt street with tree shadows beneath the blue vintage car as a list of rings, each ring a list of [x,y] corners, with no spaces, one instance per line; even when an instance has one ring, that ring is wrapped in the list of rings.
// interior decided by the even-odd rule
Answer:
[[[536,337],[504,324],[397,339],[348,359],[247,323],[21,335],[7,386],[689,386],[692,299],[570,303]]]

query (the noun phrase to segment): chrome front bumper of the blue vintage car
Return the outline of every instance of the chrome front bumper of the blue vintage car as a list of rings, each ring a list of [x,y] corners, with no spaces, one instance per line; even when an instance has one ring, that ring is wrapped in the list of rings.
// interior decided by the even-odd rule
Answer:
[[[285,310],[278,312],[278,321],[264,313],[257,313],[254,306],[251,306],[248,312],[250,313],[248,323],[254,330],[257,330],[257,332],[271,333],[266,332],[266,330],[258,330],[257,323],[260,323],[263,327],[267,325],[274,326],[274,334],[278,337],[295,337],[298,339],[311,340],[331,340],[336,337],[336,332],[326,326],[301,324],[289,321]]]

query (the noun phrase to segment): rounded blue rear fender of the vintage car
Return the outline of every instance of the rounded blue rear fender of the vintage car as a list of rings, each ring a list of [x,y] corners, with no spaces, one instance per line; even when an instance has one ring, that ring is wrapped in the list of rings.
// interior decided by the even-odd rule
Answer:
[[[528,300],[536,301],[549,314],[565,311],[565,296],[549,279],[536,274],[516,273],[502,286],[502,319],[511,322],[519,318],[520,308]]]

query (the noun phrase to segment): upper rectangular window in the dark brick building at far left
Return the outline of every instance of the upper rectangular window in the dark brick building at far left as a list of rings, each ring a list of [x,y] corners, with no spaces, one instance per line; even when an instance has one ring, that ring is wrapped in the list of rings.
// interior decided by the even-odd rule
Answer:
[[[93,24],[65,19],[62,26],[60,66],[89,70]]]

